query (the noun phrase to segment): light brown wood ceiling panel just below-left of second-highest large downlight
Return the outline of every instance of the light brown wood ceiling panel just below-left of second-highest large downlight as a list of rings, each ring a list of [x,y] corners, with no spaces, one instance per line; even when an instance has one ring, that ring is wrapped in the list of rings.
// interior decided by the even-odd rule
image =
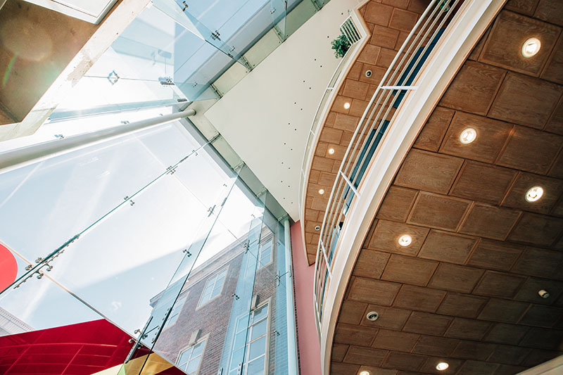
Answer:
[[[412,150],[400,168],[395,184],[447,194],[463,159],[453,156]]]

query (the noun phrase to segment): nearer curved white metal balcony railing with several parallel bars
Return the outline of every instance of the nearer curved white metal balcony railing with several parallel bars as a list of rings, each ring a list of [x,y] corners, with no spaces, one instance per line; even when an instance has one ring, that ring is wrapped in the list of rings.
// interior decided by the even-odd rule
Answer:
[[[411,91],[429,56],[463,0],[432,0],[386,71],[356,127],[332,188],[320,230],[315,263],[315,314],[321,332],[325,293],[346,214],[362,193],[362,179],[396,111]],[[405,110],[405,108],[401,108]],[[338,282],[338,281],[337,281]]]

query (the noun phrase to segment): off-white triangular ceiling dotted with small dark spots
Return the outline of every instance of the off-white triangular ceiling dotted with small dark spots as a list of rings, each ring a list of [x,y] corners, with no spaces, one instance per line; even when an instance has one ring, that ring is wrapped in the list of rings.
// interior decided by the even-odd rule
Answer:
[[[339,63],[331,41],[358,3],[330,1],[205,112],[295,221],[307,136]]]

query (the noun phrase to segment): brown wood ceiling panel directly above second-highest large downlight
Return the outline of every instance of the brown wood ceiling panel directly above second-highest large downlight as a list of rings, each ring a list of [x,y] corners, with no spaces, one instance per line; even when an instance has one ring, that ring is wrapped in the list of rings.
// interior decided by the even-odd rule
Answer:
[[[467,61],[445,91],[440,105],[486,115],[504,77],[505,71],[502,69]],[[472,100],[467,100],[467,97]]]

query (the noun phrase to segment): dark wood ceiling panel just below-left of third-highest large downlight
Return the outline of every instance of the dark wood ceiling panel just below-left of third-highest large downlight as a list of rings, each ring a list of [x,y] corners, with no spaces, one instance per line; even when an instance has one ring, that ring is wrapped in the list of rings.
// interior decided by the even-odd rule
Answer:
[[[503,240],[508,236],[520,215],[520,211],[510,208],[475,203],[462,224],[460,233]]]

